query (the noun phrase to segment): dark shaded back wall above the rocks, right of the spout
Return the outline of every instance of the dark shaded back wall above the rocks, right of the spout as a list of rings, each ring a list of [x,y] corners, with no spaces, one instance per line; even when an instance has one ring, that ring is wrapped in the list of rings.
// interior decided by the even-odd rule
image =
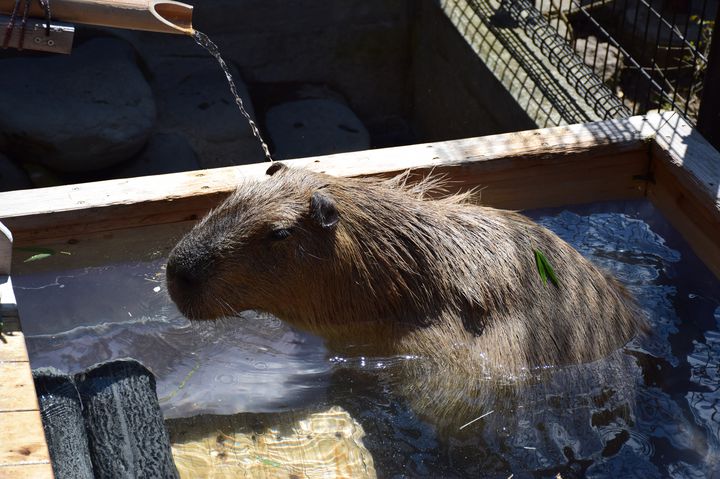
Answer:
[[[327,84],[370,126],[406,116],[413,0],[218,0],[195,26],[245,81]]]

